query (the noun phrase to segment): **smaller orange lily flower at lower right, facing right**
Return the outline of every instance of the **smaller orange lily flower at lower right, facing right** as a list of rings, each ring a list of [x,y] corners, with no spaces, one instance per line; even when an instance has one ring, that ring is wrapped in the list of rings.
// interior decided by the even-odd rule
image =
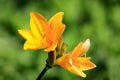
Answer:
[[[55,64],[60,65],[78,76],[86,77],[83,71],[96,67],[96,65],[90,61],[90,57],[84,56],[89,47],[90,40],[87,39],[84,43],[79,43],[72,52],[58,58]]]

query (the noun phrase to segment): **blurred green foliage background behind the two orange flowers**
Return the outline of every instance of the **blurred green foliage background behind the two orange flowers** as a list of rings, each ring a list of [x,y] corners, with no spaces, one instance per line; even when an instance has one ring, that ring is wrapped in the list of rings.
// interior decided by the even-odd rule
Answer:
[[[85,71],[87,78],[54,67],[43,80],[120,79],[120,0],[0,0],[0,80],[35,80],[45,65],[47,53],[24,51],[25,40],[17,32],[30,29],[32,11],[48,20],[63,11],[67,51],[90,38],[87,56],[97,65]]]

